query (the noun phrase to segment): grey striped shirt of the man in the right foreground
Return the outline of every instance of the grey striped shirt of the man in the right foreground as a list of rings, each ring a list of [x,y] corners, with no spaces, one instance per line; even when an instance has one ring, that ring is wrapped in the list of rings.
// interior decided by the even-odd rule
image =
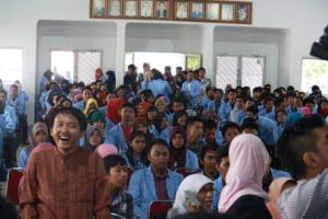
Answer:
[[[301,180],[297,185],[284,191],[278,206],[281,218],[328,218],[328,169],[311,180]]]

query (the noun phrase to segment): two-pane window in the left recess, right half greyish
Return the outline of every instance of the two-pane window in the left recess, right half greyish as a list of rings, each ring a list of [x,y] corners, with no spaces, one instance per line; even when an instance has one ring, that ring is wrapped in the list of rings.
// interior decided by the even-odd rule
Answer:
[[[102,66],[101,51],[51,50],[51,71],[60,74],[71,83],[93,82],[94,72]]]

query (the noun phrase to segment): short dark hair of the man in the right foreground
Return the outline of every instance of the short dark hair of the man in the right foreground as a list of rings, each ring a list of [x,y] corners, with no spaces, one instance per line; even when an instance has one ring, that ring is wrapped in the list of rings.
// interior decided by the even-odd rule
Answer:
[[[324,119],[319,115],[312,115],[288,127],[279,138],[278,155],[295,180],[301,180],[305,175],[303,154],[307,151],[318,151],[314,129],[324,127]]]

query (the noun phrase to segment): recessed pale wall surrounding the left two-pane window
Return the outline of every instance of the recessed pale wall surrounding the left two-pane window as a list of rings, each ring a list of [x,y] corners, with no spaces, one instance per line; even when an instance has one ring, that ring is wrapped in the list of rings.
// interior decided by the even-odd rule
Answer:
[[[50,68],[50,49],[97,49],[103,69],[115,69],[116,24],[78,21],[40,21],[37,26],[37,80]],[[36,84],[38,85],[38,84]]]

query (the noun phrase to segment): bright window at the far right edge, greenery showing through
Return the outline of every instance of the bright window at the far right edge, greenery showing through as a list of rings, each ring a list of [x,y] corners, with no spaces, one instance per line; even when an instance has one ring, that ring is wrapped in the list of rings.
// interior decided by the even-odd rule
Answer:
[[[302,59],[302,91],[311,92],[316,84],[321,89],[323,94],[328,94],[328,61],[303,58]]]

